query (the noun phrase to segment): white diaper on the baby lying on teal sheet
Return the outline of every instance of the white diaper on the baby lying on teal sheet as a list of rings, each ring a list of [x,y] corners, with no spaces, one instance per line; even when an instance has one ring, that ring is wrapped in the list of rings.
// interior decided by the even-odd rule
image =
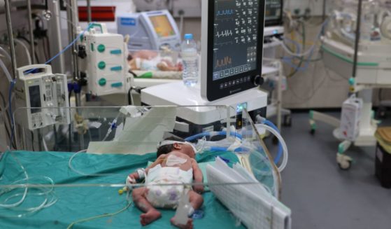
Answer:
[[[147,200],[153,207],[176,208],[184,186],[159,186],[159,184],[192,183],[193,169],[183,171],[178,167],[157,165],[148,171],[145,179],[148,193]]]

